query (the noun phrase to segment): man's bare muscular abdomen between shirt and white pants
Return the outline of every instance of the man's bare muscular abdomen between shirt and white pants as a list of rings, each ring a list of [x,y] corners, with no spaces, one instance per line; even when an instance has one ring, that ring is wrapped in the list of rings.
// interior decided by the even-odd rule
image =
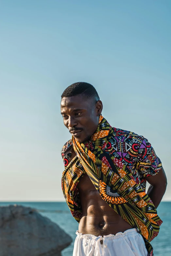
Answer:
[[[77,187],[82,207],[80,233],[95,236],[115,235],[132,228],[101,198],[87,174],[83,176]]]

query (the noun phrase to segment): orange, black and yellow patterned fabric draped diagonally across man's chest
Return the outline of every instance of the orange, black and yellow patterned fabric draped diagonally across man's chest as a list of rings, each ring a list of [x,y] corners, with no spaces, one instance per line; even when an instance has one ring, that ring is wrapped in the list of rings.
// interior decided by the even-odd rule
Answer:
[[[149,242],[158,235],[162,220],[149,196],[133,179],[128,167],[107,152],[111,135],[113,128],[100,116],[99,125],[88,142],[79,143],[72,137],[77,155],[62,174],[64,197],[79,222],[79,195],[74,192],[77,177],[87,173],[102,199],[143,236],[149,256],[152,256],[153,249]]]

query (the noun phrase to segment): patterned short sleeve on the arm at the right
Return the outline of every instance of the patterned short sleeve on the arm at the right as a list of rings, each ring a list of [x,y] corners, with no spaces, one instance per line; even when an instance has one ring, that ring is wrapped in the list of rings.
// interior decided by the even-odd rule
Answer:
[[[157,174],[161,168],[160,158],[148,140],[142,136],[142,143],[138,149],[137,170],[143,177],[148,177]]]

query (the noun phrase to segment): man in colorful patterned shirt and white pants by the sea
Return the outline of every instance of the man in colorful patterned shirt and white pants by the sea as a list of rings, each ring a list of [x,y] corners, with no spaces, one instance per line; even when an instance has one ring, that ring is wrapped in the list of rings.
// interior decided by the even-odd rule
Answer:
[[[102,108],[88,83],[72,84],[61,95],[72,134],[61,151],[62,190],[79,223],[73,256],[152,256],[149,242],[162,223],[156,208],[167,184],[162,163],[143,136],[112,128]]]

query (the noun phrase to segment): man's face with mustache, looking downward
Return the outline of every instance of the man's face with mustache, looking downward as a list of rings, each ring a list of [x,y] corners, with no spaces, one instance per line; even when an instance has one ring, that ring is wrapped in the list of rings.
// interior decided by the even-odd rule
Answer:
[[[88,140],[98,126],[102,102],[85,100],[82,95],[62,98],[60,104],[63,123],[78,142]]]

